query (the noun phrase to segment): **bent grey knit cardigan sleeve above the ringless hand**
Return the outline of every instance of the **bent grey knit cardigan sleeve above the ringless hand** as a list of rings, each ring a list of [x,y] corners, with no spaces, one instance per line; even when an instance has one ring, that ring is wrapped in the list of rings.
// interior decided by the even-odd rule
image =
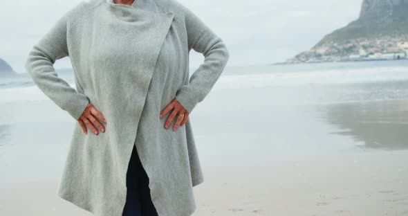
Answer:
[[[89,98],[59,78],[53,66],[56,60],[68,56],[66,15],[59,18],[33,46],[28,53],[25,68],[37,87],[77,120],[89,104]]]

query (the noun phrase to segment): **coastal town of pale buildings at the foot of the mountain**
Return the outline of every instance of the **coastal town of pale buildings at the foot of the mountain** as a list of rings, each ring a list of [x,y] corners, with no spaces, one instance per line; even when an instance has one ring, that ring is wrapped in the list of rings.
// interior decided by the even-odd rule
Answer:
[[[408,35],[358,38],[346,42],[318,44],[284,64],[347,62],[369,60],[408,60]]]

